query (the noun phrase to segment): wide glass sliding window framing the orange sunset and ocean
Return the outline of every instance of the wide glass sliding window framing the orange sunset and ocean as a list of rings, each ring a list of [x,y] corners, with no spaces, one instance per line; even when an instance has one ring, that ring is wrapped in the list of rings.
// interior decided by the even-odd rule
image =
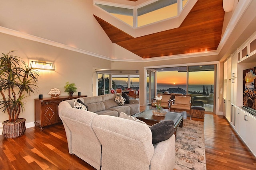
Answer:
[[[157,70],[157,93],[191,95],[192,106],[214,112],[216,65],[154,68]]]

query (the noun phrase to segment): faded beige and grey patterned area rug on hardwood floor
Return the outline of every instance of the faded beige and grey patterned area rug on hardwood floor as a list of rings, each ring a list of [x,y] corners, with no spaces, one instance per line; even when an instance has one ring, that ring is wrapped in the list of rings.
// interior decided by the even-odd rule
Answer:
[[[204,122],[183,120],[176,137],[176,170],[206,170]]]

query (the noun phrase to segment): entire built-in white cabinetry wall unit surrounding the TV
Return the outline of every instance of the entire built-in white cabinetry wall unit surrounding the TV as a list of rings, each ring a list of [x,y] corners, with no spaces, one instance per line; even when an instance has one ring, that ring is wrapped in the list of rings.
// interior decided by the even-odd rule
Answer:
[[[242,109],[243,70],[256,66],[256,32],[224,62],[223,113],[256,156],[256,116]]]

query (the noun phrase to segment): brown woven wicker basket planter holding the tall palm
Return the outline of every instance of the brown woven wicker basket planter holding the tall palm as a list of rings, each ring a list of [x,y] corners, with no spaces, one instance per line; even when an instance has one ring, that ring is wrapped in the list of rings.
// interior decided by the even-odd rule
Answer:
[[[9,120],[4,121],[3,124],[3,136],[5,138],[15,138],[20,137],[25,133],[26,119],[20,118],[15,122],[10,122]]]

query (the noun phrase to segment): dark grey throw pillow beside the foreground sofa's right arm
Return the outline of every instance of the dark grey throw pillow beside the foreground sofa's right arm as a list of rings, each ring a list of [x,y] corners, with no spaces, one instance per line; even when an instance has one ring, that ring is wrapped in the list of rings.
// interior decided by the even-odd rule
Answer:
[[[160,121],[152,126],[150,130],[152,132],[152,144],[156,144],[169,139],[174,134],[174,121],[166,120]]]

